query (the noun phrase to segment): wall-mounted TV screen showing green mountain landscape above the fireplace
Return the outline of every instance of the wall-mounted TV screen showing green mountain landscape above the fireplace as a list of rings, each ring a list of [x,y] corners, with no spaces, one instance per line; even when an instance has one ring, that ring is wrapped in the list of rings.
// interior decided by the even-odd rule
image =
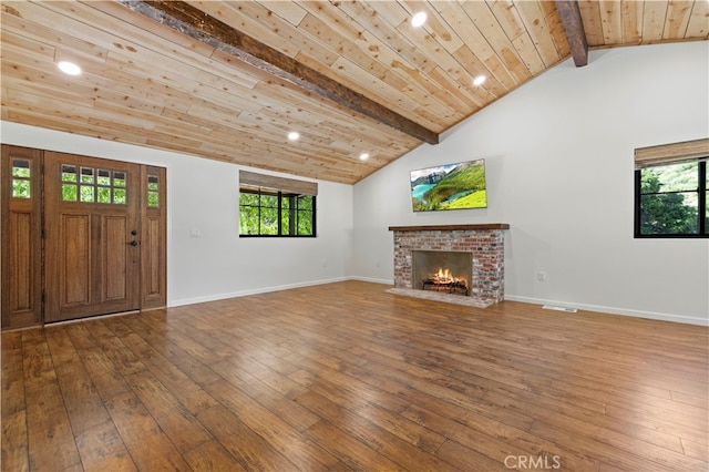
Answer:
[[[414,212],[485,208],[485,160],[411,171]]]

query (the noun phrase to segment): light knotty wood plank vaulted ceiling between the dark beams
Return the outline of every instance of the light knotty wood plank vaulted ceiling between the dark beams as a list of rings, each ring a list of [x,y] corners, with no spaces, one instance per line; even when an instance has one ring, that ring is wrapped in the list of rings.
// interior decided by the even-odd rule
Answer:
[[[2,120],[346,184],[423,143],[131,3],[2,1]],[[568,22],[551,1],[184,7],[205,14],[193,29],[216,22],[250,37],[433,136],[571,55]],[[428,21],[413,28],[419,11]],[[579,1],[577,11],[592,49],[709,38],[706,0]],[[83,73],[60,73],[62,60]],[[473,85],[479,75],[486,81]]]

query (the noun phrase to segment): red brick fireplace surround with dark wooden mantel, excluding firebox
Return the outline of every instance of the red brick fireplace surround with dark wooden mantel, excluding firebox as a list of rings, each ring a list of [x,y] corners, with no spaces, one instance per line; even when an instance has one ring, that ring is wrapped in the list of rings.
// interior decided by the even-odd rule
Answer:
[[[470,296],[496,304],[504,299],[504,230],[510,225],[390,226],[394,233],[394,288],[422,288],[412,281],[413,252],[470,253]]]

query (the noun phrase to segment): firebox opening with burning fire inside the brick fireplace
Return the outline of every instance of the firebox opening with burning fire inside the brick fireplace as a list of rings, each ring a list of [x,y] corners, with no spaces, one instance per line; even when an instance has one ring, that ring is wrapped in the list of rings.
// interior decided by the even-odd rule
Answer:
[[[412,250],[412,287],[471,295],[473,257],[469,252]]]

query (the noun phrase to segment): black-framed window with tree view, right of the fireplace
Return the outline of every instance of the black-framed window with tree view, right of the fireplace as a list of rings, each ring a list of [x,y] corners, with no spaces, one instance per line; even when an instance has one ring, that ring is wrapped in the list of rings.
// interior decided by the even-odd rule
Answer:
[[[706,154],[649,164],[637,155],[636,164],[644,165],[635,171],[635,237],[709,237]]]

